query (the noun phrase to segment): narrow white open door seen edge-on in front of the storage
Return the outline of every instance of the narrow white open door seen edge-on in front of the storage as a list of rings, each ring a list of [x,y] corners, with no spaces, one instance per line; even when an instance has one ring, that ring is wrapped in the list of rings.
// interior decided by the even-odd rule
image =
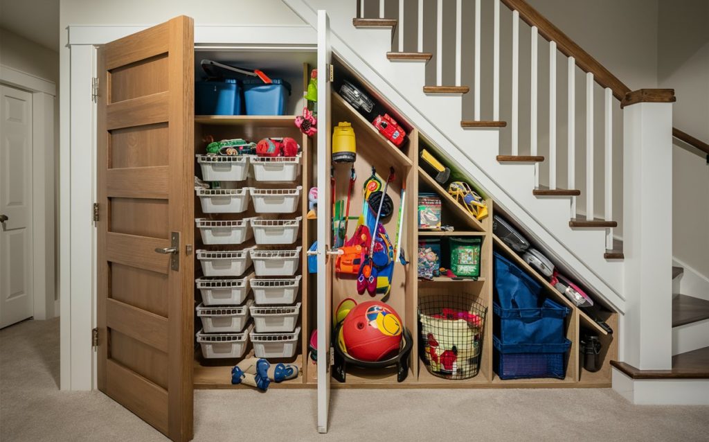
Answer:
[[[318,432],[328,432],[328,414],[330,412],[330,332],[333,328],[333,259],[330,247],[331,207],[330,192],[330,20],[325,11],[318,11],[318,353],[325,357],[318,358]],[[324,349],[324,350],[323,350]]]

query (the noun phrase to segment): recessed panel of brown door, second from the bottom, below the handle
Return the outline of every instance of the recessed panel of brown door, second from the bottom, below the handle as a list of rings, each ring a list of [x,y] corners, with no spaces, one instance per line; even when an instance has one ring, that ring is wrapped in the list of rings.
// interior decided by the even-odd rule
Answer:
[[[108,297],[167,318],[167,275],[150,270],[111,263]]]

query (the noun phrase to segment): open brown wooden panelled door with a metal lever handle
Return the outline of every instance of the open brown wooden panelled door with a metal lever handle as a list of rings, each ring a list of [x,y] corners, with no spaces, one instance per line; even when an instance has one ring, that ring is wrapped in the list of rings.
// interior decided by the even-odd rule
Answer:
[[[189,441],[192,19],[104,45],[98,72],[99,389],[173,441]]]

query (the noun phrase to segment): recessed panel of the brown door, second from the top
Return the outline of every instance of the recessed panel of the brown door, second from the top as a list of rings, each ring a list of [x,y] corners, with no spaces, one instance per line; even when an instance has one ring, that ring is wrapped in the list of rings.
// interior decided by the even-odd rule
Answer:
[[[167,123],[111,131],[108,167],[166,166],[167,137]]]

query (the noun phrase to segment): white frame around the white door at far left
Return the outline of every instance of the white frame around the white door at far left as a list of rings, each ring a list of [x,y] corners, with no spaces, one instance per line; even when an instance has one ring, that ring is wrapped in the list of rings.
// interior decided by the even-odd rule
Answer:
[[[32,286],[34,319],[57,316],[55,302],[54,101],[56,85],[0,65],[0,83],[32,94]]]

